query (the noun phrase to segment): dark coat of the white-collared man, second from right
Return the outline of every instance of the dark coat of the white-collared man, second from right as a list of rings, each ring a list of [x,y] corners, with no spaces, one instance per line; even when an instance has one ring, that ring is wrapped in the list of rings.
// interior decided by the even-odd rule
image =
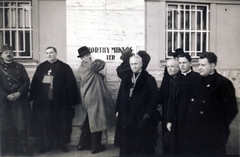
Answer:
[[[183,143],[183,129],[185,124],[188,102],[195,90],[195,83],[200,75],[191,71],[186,76],[178,74],[170,85],[169,101],[166,121],[172,123],[171,154],[179,154]]]

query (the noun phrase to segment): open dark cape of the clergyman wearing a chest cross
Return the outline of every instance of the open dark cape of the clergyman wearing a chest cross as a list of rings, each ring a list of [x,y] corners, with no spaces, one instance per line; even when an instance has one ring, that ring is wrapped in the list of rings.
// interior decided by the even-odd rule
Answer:
[[[57,61],[58,71],[53,79],[53,103],[57,109],[61,132],[69,136],[72,132],[72,118],[74,117],[74,109],[72,105],[79,104],[80,94],[77,87],[76,79],[69,65],[62,61]],[[41,134],[41,111],[44,109],[43,86],[44,68],[48,61],[41,63],[33,76],[30,88],[30,100],[33,100],[32,109],[32,131],[33,135]],[[45,98],[46,99],[46,98]]]

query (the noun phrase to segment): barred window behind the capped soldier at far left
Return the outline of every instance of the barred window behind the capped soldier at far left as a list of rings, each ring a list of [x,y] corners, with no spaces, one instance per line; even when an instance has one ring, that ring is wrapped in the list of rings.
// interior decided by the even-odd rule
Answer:
[[[9,44],[15,58],[32,58],[30,1],[0,2],[0,47]]]

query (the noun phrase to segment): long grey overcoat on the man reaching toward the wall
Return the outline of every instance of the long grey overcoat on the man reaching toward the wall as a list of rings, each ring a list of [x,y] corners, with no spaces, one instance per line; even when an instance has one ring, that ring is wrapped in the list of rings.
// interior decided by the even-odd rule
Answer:
[[[86,116],[88,116],[90,131],[98,132],[116,125],[116,105],[102,75],[98,70],[93,69],[92,65],[94,63],[96,62],[83,60],[78,68],[83,108],[80,126],[83,126]],[[102,66],[102,62],[99,63],[95,64],[95,69]]]

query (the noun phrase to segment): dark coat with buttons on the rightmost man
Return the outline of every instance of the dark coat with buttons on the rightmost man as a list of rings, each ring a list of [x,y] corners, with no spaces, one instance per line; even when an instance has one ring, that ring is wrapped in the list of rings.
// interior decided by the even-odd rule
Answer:
[[[234,86],[215,71],[197,87],[187,112],[184,153],[224,155],[229,125],[238,112]]]

